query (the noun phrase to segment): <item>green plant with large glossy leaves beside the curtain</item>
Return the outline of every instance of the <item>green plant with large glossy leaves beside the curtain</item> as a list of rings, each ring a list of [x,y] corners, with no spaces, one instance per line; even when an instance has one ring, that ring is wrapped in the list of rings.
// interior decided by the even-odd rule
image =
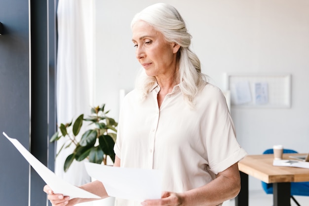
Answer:
[[[67,172],[74,160],[82,161],[85,158],[89,162],[106,165],[108,156],[115,162],[114,145],[116,141],[116,127],[118,123],[108,117],[106,114],[109,111],[104,111],[105,104],[91,108],[91,115],[84,118],[81,114],[77,117],[75,122],[60,124],[59,131],[57,131],[50,139],[50,142],[59,140],[62,137],[68,137],[60,148],[57,155],[64,148],[68,148],[72,144],[75,149],[70,154],[64,163],[64,171]],[[84,122],[91,125],[91,129],[84,132],[80,138],[77,137],[80,128]]]

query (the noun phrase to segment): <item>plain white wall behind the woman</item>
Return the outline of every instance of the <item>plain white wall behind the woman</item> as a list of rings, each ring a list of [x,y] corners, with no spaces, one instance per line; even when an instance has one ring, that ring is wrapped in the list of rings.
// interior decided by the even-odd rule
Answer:
[[[248,153],[260,154],[273,144],[309,152],[309,1],[160,1],[182,14],[203,72],[221,89],[225,89],[225,72],[292,74],[291,108],[232,108],[237,138]],[[130,21],[144,7],[160,1],[95,2],[94,103],[107,103],[116,119],[118,91],[133,89],[140,68]],[[250,189],[261,189],[258,180],[250,182]]]

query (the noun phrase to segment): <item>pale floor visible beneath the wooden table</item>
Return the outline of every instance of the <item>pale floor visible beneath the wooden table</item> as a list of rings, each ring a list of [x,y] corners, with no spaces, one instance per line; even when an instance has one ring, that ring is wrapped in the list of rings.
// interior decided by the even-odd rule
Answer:
[[[301,206],[309,206],[309,197],[294,196]],[[223,203],[223,206],[235,206],[234,200]],[[266,194],[263,190],[249,191],[249,206],[272,206],[272,195]],[[291,206],[297,206],[291,200]]]

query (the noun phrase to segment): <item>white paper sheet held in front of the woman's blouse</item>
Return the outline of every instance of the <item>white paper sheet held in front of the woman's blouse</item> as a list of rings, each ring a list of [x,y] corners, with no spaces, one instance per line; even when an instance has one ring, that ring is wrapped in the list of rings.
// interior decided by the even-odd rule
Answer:
[[[160,199],[162,174],[158,170],[119,168],[85,162],[88,174],[101,181],[109,196],[143,201]]]

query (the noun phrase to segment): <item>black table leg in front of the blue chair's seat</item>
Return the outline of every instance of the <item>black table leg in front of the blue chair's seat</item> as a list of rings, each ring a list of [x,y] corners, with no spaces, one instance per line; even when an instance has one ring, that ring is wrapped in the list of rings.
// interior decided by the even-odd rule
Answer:
[[[273,206],[291,206],[291,183],[273,183]]]

